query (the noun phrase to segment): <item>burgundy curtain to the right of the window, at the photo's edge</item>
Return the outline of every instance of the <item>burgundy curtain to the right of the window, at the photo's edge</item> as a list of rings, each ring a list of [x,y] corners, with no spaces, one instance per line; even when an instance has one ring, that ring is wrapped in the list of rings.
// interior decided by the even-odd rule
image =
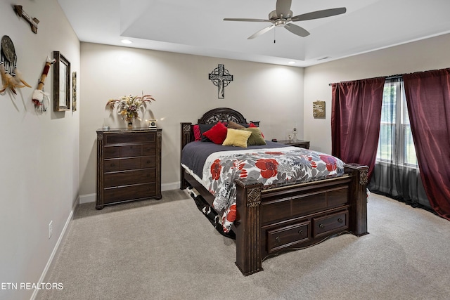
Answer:
[[[437,214],[450,220],[450,69],[403,79],[425,192]]]

